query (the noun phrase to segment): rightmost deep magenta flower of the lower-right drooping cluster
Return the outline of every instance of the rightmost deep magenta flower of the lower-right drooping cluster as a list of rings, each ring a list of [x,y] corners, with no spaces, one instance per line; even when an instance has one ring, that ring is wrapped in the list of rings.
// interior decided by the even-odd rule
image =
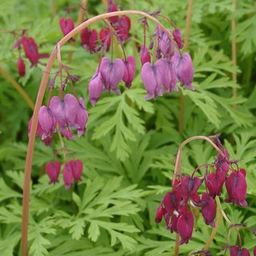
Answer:
[[[246,202],[246,177],[245,170],[233,171],[229,178],[226,178],[226,190],[229,196],[225,202],[232,202],[238,206],[247,206]]]

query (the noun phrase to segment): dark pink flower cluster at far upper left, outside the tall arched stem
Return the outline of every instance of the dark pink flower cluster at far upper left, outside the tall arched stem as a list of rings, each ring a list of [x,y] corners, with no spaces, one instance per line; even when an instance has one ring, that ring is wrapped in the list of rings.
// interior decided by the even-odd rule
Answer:
[[[23,48],[26,58],[30,61],[30,67],[37,66],[40,58],[47,58],[49,54],[39,54],[38,45],[34,42],[34,38],[27,38],[25,35],[26,30],[22,31],[22,35],[13,46],[13,49],[18,48],[19,57],[17,62],[18,74],[23,77],[26,74],[26,66],[21,56],[21,50]],[[17,34],[13,32],[15,36]]]

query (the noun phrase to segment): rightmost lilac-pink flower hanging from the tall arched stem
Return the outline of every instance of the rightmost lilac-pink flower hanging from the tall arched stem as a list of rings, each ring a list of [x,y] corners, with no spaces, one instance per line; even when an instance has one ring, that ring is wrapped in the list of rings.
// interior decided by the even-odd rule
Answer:
[[[181,82],[181,86],[186,86],[186,89],[194,90],[192,86],[193,81],[193,63],[190,54],[183,54],[182,58],[179,59],[177,67],[177,77]]]

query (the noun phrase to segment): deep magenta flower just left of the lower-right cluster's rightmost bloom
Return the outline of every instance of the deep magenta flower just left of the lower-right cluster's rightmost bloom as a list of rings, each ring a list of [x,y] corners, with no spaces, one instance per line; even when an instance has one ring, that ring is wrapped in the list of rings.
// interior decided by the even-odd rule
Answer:
[[[210,173],[206,177],[206,188],[209,190],[209,194],[212,198],[216,195],[221,195],[222,186],[225,182],[226,174],[222,171]]]

